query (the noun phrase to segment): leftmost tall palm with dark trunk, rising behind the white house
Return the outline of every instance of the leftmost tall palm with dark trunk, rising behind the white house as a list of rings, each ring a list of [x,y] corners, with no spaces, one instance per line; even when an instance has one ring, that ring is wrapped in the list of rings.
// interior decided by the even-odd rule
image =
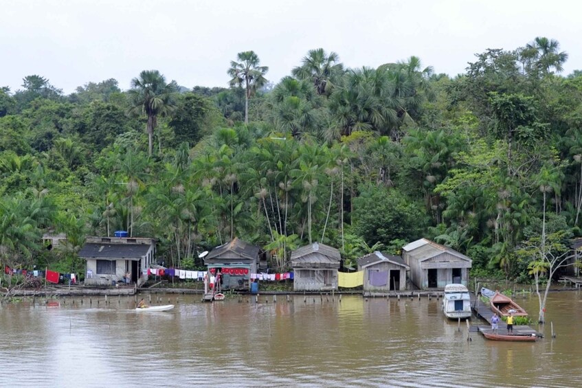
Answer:
[[[146,116],[148,118],[148,152],[152,156],[153,132],[157,126],[157,117],[166,116],[175,111],[175,96],[178,85],[175,81],[166,83],[166,78],[157,70],[144,70],[139,78],[131,80],[131,87],[127,93],[131,101],[129,113],[131,115]]]

